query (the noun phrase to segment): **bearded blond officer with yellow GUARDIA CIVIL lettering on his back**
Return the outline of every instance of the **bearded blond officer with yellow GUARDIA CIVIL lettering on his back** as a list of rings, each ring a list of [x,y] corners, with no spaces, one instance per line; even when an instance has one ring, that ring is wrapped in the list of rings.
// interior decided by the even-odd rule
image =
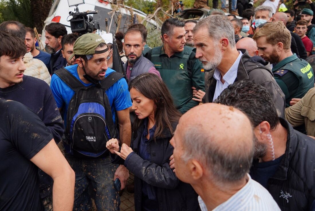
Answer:
[[[283,22],[272,22],[261,27],[253,39],[258,55],[270,63],[276,63],[272,73],[285,94],[286,107],[292,98],[302,98],[314,87],[311,65],[290,50],[291,35]]]

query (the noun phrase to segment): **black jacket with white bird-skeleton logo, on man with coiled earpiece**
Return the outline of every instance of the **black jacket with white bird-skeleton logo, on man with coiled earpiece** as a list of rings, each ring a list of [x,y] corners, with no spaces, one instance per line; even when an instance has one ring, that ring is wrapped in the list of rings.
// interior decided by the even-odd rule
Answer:
[[[314,210],[315,141],[294,130],[285,119],[280,123],[288,131],[286,150],[278,170],[268,180],[267,190],[281,210]]]

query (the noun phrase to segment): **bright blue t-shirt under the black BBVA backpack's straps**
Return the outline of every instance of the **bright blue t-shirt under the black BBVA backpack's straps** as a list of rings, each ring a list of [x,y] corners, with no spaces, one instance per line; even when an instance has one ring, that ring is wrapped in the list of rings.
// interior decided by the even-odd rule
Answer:
[[[91,83],[84,83],[81,81],[78,73],[77,73],[77,64],[65,67],[72,75],[74,75],[84,86],[90,86]],[[107,77],[109,74],[114,72],[115,70],[108,68],[106,70]],[[67,111],[68,105],[71,98],[74,95],[74,91],[63,82],[59,76],[53,74],[51,77],[50,88],[56,100],[58,108],[64,108],[64,123],[66,127],[66,120],[67,120]],[[124,78],[119,79],[116,83],[114,83],[111,87],[109,87],[105,91],[109,104],[111,105],[112,109],[112,118],[114,123],[116,123],[116,111],[121,111],[126,108],[129,108],[131,103],[130,93],[128,91],[127,81]]]

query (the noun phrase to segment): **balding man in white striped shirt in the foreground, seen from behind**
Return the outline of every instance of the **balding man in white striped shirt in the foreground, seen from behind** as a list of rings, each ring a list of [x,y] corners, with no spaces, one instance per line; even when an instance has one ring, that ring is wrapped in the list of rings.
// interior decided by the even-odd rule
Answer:
[[[247,173],[254,143],[243,112],[226,105],[198,105],[180,118],[171,144],[176,176],[196,190],[202,211],[280,210]]]

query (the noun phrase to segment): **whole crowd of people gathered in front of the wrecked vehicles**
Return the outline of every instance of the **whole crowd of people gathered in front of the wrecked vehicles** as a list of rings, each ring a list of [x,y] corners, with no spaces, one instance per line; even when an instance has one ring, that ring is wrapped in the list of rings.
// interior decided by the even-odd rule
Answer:
[[[136,211],[315,210],[313,10],[279,5],[169,18],[152,49],[1,23],[0,210],[120,210],[129,172]]]

